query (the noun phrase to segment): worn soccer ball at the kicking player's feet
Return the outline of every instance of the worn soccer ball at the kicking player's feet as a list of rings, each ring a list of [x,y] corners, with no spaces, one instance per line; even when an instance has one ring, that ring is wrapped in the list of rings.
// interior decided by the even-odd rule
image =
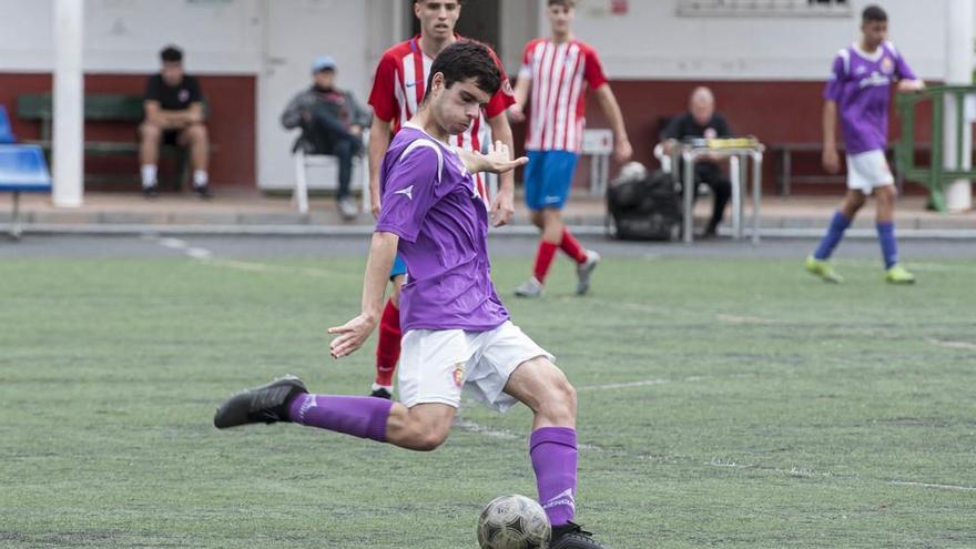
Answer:
[[[481,549],[546,549],[551,536],[542,506],[517,494],[495,498],[478,519]]]

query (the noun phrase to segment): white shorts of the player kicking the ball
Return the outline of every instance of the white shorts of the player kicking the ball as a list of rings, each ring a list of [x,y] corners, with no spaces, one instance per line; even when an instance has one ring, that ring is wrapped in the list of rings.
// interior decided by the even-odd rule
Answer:
[[[516,399],[504,393],[508,376],[526,360],[555,357],[510,321],[488,332],[411,329],[400,342],[400,401],[457,408],[461,389],[499,411]]]

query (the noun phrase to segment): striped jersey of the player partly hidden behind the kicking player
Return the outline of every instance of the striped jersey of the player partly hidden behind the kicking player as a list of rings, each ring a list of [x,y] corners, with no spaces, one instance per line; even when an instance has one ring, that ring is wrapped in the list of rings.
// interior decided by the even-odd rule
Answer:
[[[515,103],[508,75],[495,52],[491,52],[491,57],[501,71],[501,88],[491,96],[481,110],[481,115],[465,133],[451,136],[454,145],[468,151],[480,151],[486,140],[491,139],[487,119],[502,114]],[[374,115],[385,122],[393,122],[394,133],[417,113],[433,64],[434,59],[420,50],[419,35],[386,50],[379,60],[373,80],[373,91],[369,93],[369,104],[373,106]],[[477,184],[479,193],[487,200],[488,194],[481,177],[477,177]]]

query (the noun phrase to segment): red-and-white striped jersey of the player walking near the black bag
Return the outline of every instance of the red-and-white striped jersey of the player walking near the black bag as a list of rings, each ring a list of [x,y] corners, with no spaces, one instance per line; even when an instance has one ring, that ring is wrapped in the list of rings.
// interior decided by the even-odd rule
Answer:
[[[586,125],[586,88],[607,83],[592,47],[578,40],[557,44],[539,38],[526,44],[519,77],[531,80],[529,151],[579,152]]]

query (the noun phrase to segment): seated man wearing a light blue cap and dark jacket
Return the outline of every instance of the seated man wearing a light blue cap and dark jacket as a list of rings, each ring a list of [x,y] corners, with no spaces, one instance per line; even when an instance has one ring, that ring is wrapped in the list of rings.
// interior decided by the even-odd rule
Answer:
[[[282,125],[302,129],[295,150],[301,146],[309,154],[338,157],[336,205],[344,218],[352,220],[358,213],[349,196],[353,156],[363,151],[363,129],[369,124],[369,113],[352,93],[335,87],[335,74],[333,58],[316,59],[312,63],[312,87],[292,99],[282,113]]]

